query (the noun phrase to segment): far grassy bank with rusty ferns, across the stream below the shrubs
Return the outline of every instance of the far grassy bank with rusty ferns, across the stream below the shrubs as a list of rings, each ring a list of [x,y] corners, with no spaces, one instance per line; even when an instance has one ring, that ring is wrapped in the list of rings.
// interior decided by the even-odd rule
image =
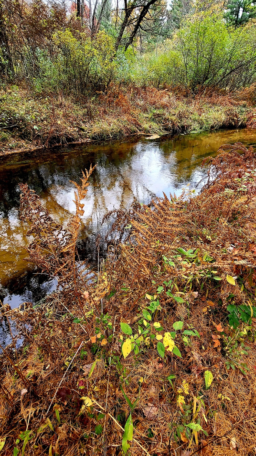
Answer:
[[[31,96],[25,88],[5,87],[0,92],[0,154],[136,133],[254,127],[255,109],[247,94],[192,98],[180,92],[113,88],[76,99],[61,93]]]

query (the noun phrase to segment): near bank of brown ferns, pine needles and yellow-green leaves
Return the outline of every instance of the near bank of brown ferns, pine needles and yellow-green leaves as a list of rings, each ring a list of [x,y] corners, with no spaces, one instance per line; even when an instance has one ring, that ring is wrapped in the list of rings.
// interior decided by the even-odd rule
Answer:
[[[204,165],[199,196],[115,213],[90,283],[75,242],[93,170],[68,231],[21,186],[30,259],[61,289],[2,308],[25,337],[1,358],[3,455],[254,454],[255,152]]]

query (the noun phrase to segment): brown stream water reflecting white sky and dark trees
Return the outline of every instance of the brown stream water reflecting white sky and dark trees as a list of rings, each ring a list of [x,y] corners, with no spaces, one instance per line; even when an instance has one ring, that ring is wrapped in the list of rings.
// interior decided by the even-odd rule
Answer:
[[[56,283],[35,275],[24,261],[28,240],[19,219],[19,182],[28,183],[40,195],[54,218],[64,223],[74,213],[74,185],[81,170],[90,163],[97,168],[90,179],[82,219],[80,249],[93,261],[95,237],[101,236],[101,254],[105,253],[107,225],[101,221],[113,208],[129,207],[133,198],[147,203],[153,196],[191,186],[200,189],[205,171],[204,157],[216,155],[221,144],[241,141],[256,144],[253,130],[226,130],[179,135],[167,140],[140,140],[106,145],[86,145],[45,150],[38,155],[17,154],[0,161],[0,299],[12,307],[24,301],[37,302],[53,290]],[[196,187],[197,186],[197,187]]]

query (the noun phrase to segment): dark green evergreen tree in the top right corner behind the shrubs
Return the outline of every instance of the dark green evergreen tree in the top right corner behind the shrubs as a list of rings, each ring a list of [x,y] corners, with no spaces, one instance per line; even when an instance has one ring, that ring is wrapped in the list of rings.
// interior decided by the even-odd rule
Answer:
[[[226,9],[227,23],[238,27],[256,17],[256,0],[228,0]]]

